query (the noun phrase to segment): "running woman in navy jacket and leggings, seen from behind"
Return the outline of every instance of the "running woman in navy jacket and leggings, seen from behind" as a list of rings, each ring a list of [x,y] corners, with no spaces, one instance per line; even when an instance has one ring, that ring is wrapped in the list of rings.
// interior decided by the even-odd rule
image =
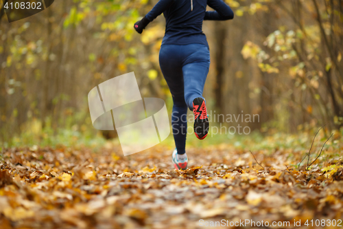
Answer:
[[[207,5],[215,11],[206,11]],[[202,91],[209,72],[210,53],[202,21],[233,19],[233,10],[222,0],[160,0],[141,21],[134,23],[134,29],[141,34],[162,13],[166,26],[159,63],[174,102],[171,127],[176,149],[172,161],[176,169],[187,169],[187,108],[194,113],[196,137],[202,140],[209,132]]]

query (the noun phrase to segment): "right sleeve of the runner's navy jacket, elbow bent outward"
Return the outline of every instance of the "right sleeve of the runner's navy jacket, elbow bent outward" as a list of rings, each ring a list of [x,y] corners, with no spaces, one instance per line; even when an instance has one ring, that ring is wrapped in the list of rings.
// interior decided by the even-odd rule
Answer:
[[[207,5],[215,11],[206,11],[204,20],[225,21],[233,19],[233,10],[222,0],[207,0]]]

